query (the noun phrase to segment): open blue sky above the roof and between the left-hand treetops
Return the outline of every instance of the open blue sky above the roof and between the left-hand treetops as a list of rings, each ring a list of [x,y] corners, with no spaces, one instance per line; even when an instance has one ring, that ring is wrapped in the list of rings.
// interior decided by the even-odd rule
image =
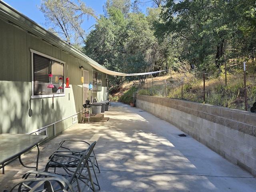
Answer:
[[[37,8],[37,6],[41,5],[41,0],[3,0],[7,4],[9,4],[12,8],[16,9],[18,12],[24,14],[40,26],[47,29],[44,25],[45,18],[44,14]],[[83,0],[86,6],[92,7],[96,14],[103,14],[103,5],[106,0]],[[94,18],[90,18],[89,21],[86,19],[82,24],[82,28],[85,30],[86,33],[89,33],[91,30],[91,26],[96,23]]]

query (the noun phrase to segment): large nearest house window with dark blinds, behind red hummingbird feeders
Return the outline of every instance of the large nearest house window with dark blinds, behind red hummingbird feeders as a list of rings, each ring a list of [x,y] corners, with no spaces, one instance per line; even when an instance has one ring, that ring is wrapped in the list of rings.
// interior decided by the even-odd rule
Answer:
[[[32,98],[46,98],[64,96],[64,62],[32,51]],[[54,88],[48,88],[50,84],[49,74],[52,74]],[[62,80],[60,80],[62,78]]]

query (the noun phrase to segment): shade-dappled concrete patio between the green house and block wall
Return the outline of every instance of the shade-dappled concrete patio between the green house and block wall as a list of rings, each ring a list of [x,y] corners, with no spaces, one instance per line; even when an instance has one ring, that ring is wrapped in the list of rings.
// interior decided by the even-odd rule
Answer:
[[[105,115],[107,122],[77,124],[42,144],[39,170],[44,170],[60,141],[78,139],[97,142],[100,192],[256,191],[251,174],[172,124],[119,102],[112,102]],[[35,155],[32,151],[22,158],[30,164]],[[0,188],[9,190],[27,170],[18,161],[6,166]]]

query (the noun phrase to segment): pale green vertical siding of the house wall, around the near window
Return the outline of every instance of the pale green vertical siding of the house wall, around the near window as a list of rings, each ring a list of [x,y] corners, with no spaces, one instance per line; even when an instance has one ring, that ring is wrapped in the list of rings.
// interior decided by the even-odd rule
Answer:
[[[19,20],[18,22],[22,22]],[[76,54],[63,50],[33,32],[28,32],[0,15],[0,133],[34,133],[49,126],[49,137],[72,126],[72,116],[82,112],[82,85],[84,66],[92,81],[92,66]],[[46,34],[47,35],[47,34]],[[47,39],[47,38],[46,38]],[[30,99],[32,92],[32,61],[30,49],[66,62],[65,78],[70,78],[70,88],[65,96]],[[94,69],[95,70],[95,69]],[[102,73],[102,79],[106,77]],[[64,79],[66,83],[66,79]],[[102,86],[105,86],[103,81]],[[92,93],[92,98],[97,96]],[[100,93],[104,94],[104,93]],[[102,96],[101,96],[102,97]]]

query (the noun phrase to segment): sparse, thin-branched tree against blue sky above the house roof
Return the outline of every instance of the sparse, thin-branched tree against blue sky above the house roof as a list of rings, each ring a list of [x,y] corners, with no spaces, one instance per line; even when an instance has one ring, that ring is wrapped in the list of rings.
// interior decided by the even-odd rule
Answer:
[[[42,0],[40,11],[46,18],[46,26],[49,30],[58,34],[68,44],[79,48],[85,37],[85,31],[81,28],[84,17],[98,19],[94,10],[77,0],[78,5],[71,0]]]

